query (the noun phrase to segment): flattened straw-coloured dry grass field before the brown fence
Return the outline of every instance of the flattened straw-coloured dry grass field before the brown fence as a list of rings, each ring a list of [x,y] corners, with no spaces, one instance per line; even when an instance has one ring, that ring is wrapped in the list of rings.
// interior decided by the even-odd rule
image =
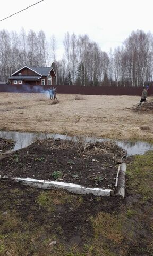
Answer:
[[[136,96],[0,93],[0,129],[86,135],[113,139],[153,140],[153,116],[134,113]]]

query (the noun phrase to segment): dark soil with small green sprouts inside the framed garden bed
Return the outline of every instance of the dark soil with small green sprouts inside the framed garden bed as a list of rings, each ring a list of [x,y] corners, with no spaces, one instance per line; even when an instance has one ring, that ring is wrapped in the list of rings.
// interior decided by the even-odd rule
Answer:
[[[118,162],[126,152],[115,143],[74,143],[60,139],[36,141],[4,158],[1,173],[114,189]]]

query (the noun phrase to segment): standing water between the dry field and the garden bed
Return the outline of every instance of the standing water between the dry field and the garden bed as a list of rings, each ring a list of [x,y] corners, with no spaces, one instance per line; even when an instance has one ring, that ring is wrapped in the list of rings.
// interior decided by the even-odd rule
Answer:
[[[72,140],[74,142],[82,140],[84,142],[103,142],[109,141],[109,139],[99,139],[99,138],[86,138],[83,136],[66,136],[60,134],[45,134],[45,133],[27,133],[27,132],[16,132],[16,131],[0,131],[0,138],[10,139],[16,141],[15,146],[8,152],[12,152],[30,145],[30,143],[36,141],[37,139],[54,138],[62,140]],[[153,150],[153,145],[146,142],[129,142],[129,141],[117,141],[114,140],[118,146],[127,151],[128,155],[140,155],[144,154],[148,150]]]

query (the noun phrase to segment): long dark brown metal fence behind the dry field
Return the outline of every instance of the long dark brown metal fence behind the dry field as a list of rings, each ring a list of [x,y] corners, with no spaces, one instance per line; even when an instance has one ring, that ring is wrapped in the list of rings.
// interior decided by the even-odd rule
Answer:
[[[36,86],[36,85],[11,85],[0,84],[0,92],[36,92],[43,93],[49,90],[50,86]],[[143,87],[81,87],[60,85],[56,86],[57,94],[84,94],[84,95],[141,95]],[[153,94],[153,87],[150,86],[148,94]]]

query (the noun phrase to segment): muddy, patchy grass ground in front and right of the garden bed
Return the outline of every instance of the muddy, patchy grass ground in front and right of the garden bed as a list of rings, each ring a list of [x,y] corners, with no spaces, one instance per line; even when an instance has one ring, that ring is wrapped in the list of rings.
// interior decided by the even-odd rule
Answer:
[[[128,160],[125,199],[1,181],[0,255],[152,256],[152,157]]]

